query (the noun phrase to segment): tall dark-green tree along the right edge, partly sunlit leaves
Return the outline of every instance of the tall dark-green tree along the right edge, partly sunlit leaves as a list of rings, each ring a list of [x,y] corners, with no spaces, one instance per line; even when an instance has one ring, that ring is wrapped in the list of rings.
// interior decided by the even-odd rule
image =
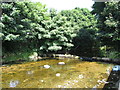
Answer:
[[[120,52],[120,2],[96,2],[92,13],[98,19],[101,46],[111,53]]]

